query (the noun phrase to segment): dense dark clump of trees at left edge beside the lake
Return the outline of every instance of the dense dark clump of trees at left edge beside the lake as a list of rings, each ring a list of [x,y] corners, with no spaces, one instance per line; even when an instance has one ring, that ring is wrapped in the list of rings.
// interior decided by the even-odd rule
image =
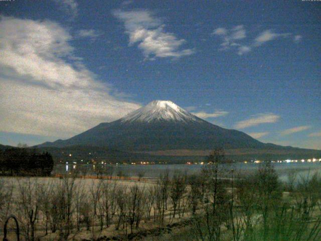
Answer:
[[[53,167],[54,161],[48,152],[37,153],[28,148],[0,150],[0,175],[3,176],[49,176]]]

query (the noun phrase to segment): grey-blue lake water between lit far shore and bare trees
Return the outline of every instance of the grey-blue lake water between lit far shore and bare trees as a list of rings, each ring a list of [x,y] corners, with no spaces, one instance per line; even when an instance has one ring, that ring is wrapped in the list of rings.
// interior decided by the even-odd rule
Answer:
[[[145,178],[155,178],[159,177],[159,174],[164,173],[166,170],[169,170],[170,175],[174,173],[174,171],[184,171],[188,174],[194,174],[200,172],[204,165],[184,165],[184,164],[154,164],[154,165],[106,165],[106,164],[98,164],[100,169],[103,171],[103,175],[117,176],[120,172],[124,176],[137,176],[139,172],[144,173]],[[77,169],[86,169],[86,175],[96,175],[97,166],[93,165],[57,165],[55,167],[54,172],[65,174],[68,172],[76,171]],[[81,168],[80,168],[81,166]],[[258,169],[260,164],[254,163],[233,163],[233,164],[223,164],[224,169],[226,170],[234,170],[234,173],[247,173],[253,172]],[[295,171],[298,178],[301,177],[311,177],[314,173],[321,174],[321,163],[274,163],[273,164],[277,174],[281,181],[287,180],[287,175],[290,172]]]

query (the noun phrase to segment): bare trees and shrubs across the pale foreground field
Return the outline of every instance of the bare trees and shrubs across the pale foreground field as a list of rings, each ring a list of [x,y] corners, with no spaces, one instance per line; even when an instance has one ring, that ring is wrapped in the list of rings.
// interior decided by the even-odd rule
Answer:
[[[5,178],[0,183],[0,225],[14,213],[23,239],[32,241],[137,239],[139,233],[147,235],[146,228],[151,228],[147,240],[321,238],[317,174],[300,178],[291,173],[282,184],[269,163],[239,176],[223,169],[222,151],[209,159],[212,164],[199,175],[175,172],[170,178],[165,172],[151,184],[73,176]],[[226,175],[230,178],[221,178]],[[180,226],[175,233],[159,233],[175,223]]]

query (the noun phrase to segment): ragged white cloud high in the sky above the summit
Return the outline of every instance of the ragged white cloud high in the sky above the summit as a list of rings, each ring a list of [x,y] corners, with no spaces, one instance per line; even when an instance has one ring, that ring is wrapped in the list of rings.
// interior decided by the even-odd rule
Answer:
[[[192,49],[181,49],[186,41],[166,32],[162,21],[154,18],[148,11],[117,10],[113,14],[124,22],[129,45],[138,43],[138,48],[147,59],[182,57],[194,53]]]

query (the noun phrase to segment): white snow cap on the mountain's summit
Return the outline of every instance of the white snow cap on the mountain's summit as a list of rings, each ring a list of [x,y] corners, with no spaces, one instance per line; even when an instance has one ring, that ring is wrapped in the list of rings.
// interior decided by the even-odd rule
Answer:
[[[200,122],[195,115],[189,113],[170,100],[154,100],[147,105],[127,114],[121,122],[152,122],[152,121],[180,121]]]

